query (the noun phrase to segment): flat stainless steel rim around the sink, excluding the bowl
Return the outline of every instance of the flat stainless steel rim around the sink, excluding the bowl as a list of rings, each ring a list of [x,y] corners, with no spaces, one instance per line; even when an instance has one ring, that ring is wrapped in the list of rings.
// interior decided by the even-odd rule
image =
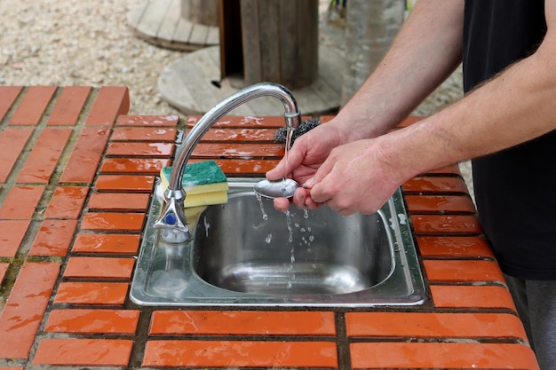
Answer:
[[[250,191],[252,185],[258,182],[258,177],[228,178],[229,194]],[[183,291],[176,292],[176,296],[152,295],[147,286],[152,283],[149,271],[157,250],[175,248],[165,246],[158,240],[159,247],[155,249],[158,232],[152,227],[162,207],[158,196],[153,196],[147,217],[146,230],[143,232],[139,258],[131,281],[130,297],[133,303],[146,306],[304,306],[304,307],[373,307],[373,306],[401,306],[425,303],[426,289],[421,266],[417,259],[417,249],[409,227],[409,216],[402,198],[401,189],[397,189],[393,197],[379,210],[385,221],[385,227],[390,227],[389,238],[394,243],[394,266],[390,275],[382,282],[352,293],[344,294],[311,294],[311,295],[264,295],[258,293],[243,293],[217,287],[199,277],[193,266],[192,249],[185,256],[189,271],[185,272],[187,279]],[[202,212],[199,212],[201,214]],[[406,219],[402,220],[405,215]],[[196,221],[196,220],[195,220]],[[188,220],[191,223],[190,220]],[[194,226],[192,226],[192,229]],[[193,243],[189,241],[187,245]],[[174,250],[174,249],[172,249]],[[173,253],[173,252],[172,252]],[[389,294],[388,292],[394,294]],[[396,293],[398,292],[398,293]],[[400,293],[401,292],[401,293]]]

